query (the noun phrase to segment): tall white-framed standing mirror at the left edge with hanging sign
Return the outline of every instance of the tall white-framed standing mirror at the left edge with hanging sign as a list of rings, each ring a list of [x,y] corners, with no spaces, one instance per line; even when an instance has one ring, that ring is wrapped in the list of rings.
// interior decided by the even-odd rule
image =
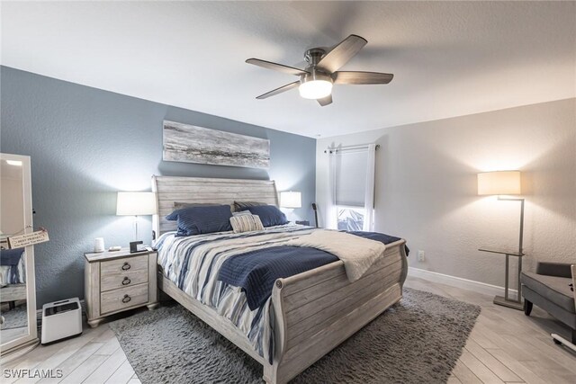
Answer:
[[[33,246],[9,249],[8,237],[31,233],[30,156],[0,154],[1,352],[37,343]]]

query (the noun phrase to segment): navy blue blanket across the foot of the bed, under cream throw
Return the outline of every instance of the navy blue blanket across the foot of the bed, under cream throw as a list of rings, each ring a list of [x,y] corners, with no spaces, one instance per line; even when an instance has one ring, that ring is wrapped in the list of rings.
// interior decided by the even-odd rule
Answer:
[[[376,232],[348,232],[351,235],[390,244],[400,240]],[[407,254],[408,255],[408,254]],[[234,255],[220,267],[218,280],[246,292],[250,310],[260,308],[272,294],[276,279],[310,271],[338,257],[320,249],[304,246],[273,246]]]

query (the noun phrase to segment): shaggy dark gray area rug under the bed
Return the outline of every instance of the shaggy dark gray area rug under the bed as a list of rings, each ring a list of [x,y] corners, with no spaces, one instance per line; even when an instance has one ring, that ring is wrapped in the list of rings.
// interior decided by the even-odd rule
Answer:
[[[478,306],[404,289],[400,303],[292,382],[446,382],[478,315]],[[178,304],[110,327],[144,384],[262,382],[262,366]]]

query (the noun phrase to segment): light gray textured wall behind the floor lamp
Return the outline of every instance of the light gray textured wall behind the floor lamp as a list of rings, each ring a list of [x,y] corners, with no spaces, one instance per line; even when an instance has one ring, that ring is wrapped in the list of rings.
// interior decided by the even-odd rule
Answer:
[[[478,196],[476,174],[509,169],[522,171],[524,269],[540,260],[576,262],[576,99],[321,138],[320,212],[328,193],[324,149],[369,142],[381,146],[374,227],[406,238],[410,266],[503,286],[504,256],[478,248],[518,249],[520,205]]]

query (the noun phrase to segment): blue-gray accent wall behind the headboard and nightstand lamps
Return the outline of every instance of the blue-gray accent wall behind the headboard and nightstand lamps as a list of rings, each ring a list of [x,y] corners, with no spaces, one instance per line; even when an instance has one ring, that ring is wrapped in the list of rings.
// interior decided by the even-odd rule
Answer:
[[[83,254],[104,237],[127,246],[131,217],[117,217],[117,191],[149,191],[152,174],[271,179],[279,191],[302,191],[289,219],[313,219],[316,140],[201,112],[113,94],[2,67],[0,149],[31,156],[37,303],[84,297]],[[218,101],[214,101],[218,103]],[[230,105],[230,108],[234,108]],[[270,139],[269,170],[162,161],[162,121]],[[151,218],[139,233],[150,241]]]

